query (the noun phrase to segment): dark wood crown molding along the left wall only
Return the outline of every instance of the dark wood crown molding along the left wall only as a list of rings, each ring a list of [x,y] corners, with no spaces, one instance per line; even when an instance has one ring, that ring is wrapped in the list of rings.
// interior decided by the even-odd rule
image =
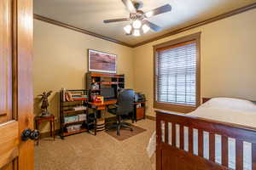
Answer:
[[[81,33],[84,33],[84,34],[87,34],[87,35],[90,35],[92,37],[97,37],[97,38],[101,38],[103,40],[106,40],[108,42],[115,42],[115,43],[118,43],[120,45],[124,45],[126,47],[129,47],[129,48],[132,48],[132,45],[129,44],[129,43],[125,43],[125,42],[121,42],[119,40],[116,40],[116,39],[113,39],[111,37],[106,37],[106,36],[102,36],[100,34],[97,34],[95,32],[92,32],[92,31],[88,31],[88,30],[84,30],[82,28],[78,28],[76,26],[71,26],[71,25],[68,25],[66,23],[63,23],[63,22],[60,22],[60,21],[57,21],[57,20],[52,20],[52,19],[49,19],[47,17],[44,17],[42,15],[39,15],[39,14],[34,14],[34,19],[36,20],[41,20],[41,21],[44,21],[44,22],[48,22],[50,24],[53,24],[55,26],[62,26],[64,28],[67,28],[67,29],[70,29],[70,30],[73,30],[73,31],[79,31]]]

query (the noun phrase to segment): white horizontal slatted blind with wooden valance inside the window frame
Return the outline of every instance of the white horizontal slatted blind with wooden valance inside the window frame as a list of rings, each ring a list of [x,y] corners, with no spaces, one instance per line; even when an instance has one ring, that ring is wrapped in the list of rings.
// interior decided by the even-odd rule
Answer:
[[[196,105],[196,42],[183,42],[157,53],[157,101]]]

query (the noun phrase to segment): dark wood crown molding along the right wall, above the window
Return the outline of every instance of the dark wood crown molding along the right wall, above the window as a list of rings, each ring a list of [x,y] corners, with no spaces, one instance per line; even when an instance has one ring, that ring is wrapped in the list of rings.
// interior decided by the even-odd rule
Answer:
[[[133,45],[132,48],[137,48],[137,47],[142,46],[142,45],[144,45],[148,42],[154,42],[154,41],[160,40],[160,39],[165,38],[165,37],[170,37],[170,36],[173,36],[177,33],[180,33],[180,32],[183,32],[183,31],[188,31],[188,30],[193,29],[193,28],[198,27],[198,26],[204,26],[204,25],[207,25],[207,24],[212,23],[214,21],[223,20],[225,18],[228,18],[228,17],[233,16],[235,14],[241,14],[241,13],[246,12],[247,10],[251,10],[253,8],[256,8],[256,3],[249,4],[245,7],[236,8],[236,9],[230,11],[230,12],[227,12],[227,13],[224,13],[224,14],[219,14],[215,17],[210,18],[210,19],[203,20],[201,22],[192,24],[190,26],[185,26],[185,27],[177,29],[175,31],[167,32],[166,34],[161,35],[159,37],[154,37],[154,38],[148,39],[148,40],[143,41],[143,42],[138,42],[137,44]]]

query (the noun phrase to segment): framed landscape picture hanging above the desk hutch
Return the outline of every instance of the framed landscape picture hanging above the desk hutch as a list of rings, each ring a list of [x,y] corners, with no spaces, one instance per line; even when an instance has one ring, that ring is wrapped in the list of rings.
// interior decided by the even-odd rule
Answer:
[[[89,71],[116,73],[117,55],[88,50]]]

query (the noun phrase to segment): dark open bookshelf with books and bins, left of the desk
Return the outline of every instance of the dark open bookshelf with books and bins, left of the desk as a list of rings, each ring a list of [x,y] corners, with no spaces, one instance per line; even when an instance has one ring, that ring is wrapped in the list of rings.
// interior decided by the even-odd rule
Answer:
[[[67,94],[73,96],[67,99]],[[61,90],[60,95],[61,139],[76,133],[88,131],[88,90]]]

